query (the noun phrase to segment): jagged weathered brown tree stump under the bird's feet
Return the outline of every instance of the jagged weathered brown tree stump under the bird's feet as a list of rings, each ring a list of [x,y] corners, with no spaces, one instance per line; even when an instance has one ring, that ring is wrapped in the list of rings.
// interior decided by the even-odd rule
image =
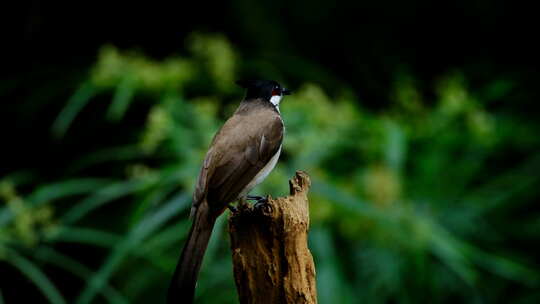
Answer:
[[[241,304],[317,303],[315,266],[307,247],[309,176],[297,171],[290,195],[246,206],[229,218]]]

